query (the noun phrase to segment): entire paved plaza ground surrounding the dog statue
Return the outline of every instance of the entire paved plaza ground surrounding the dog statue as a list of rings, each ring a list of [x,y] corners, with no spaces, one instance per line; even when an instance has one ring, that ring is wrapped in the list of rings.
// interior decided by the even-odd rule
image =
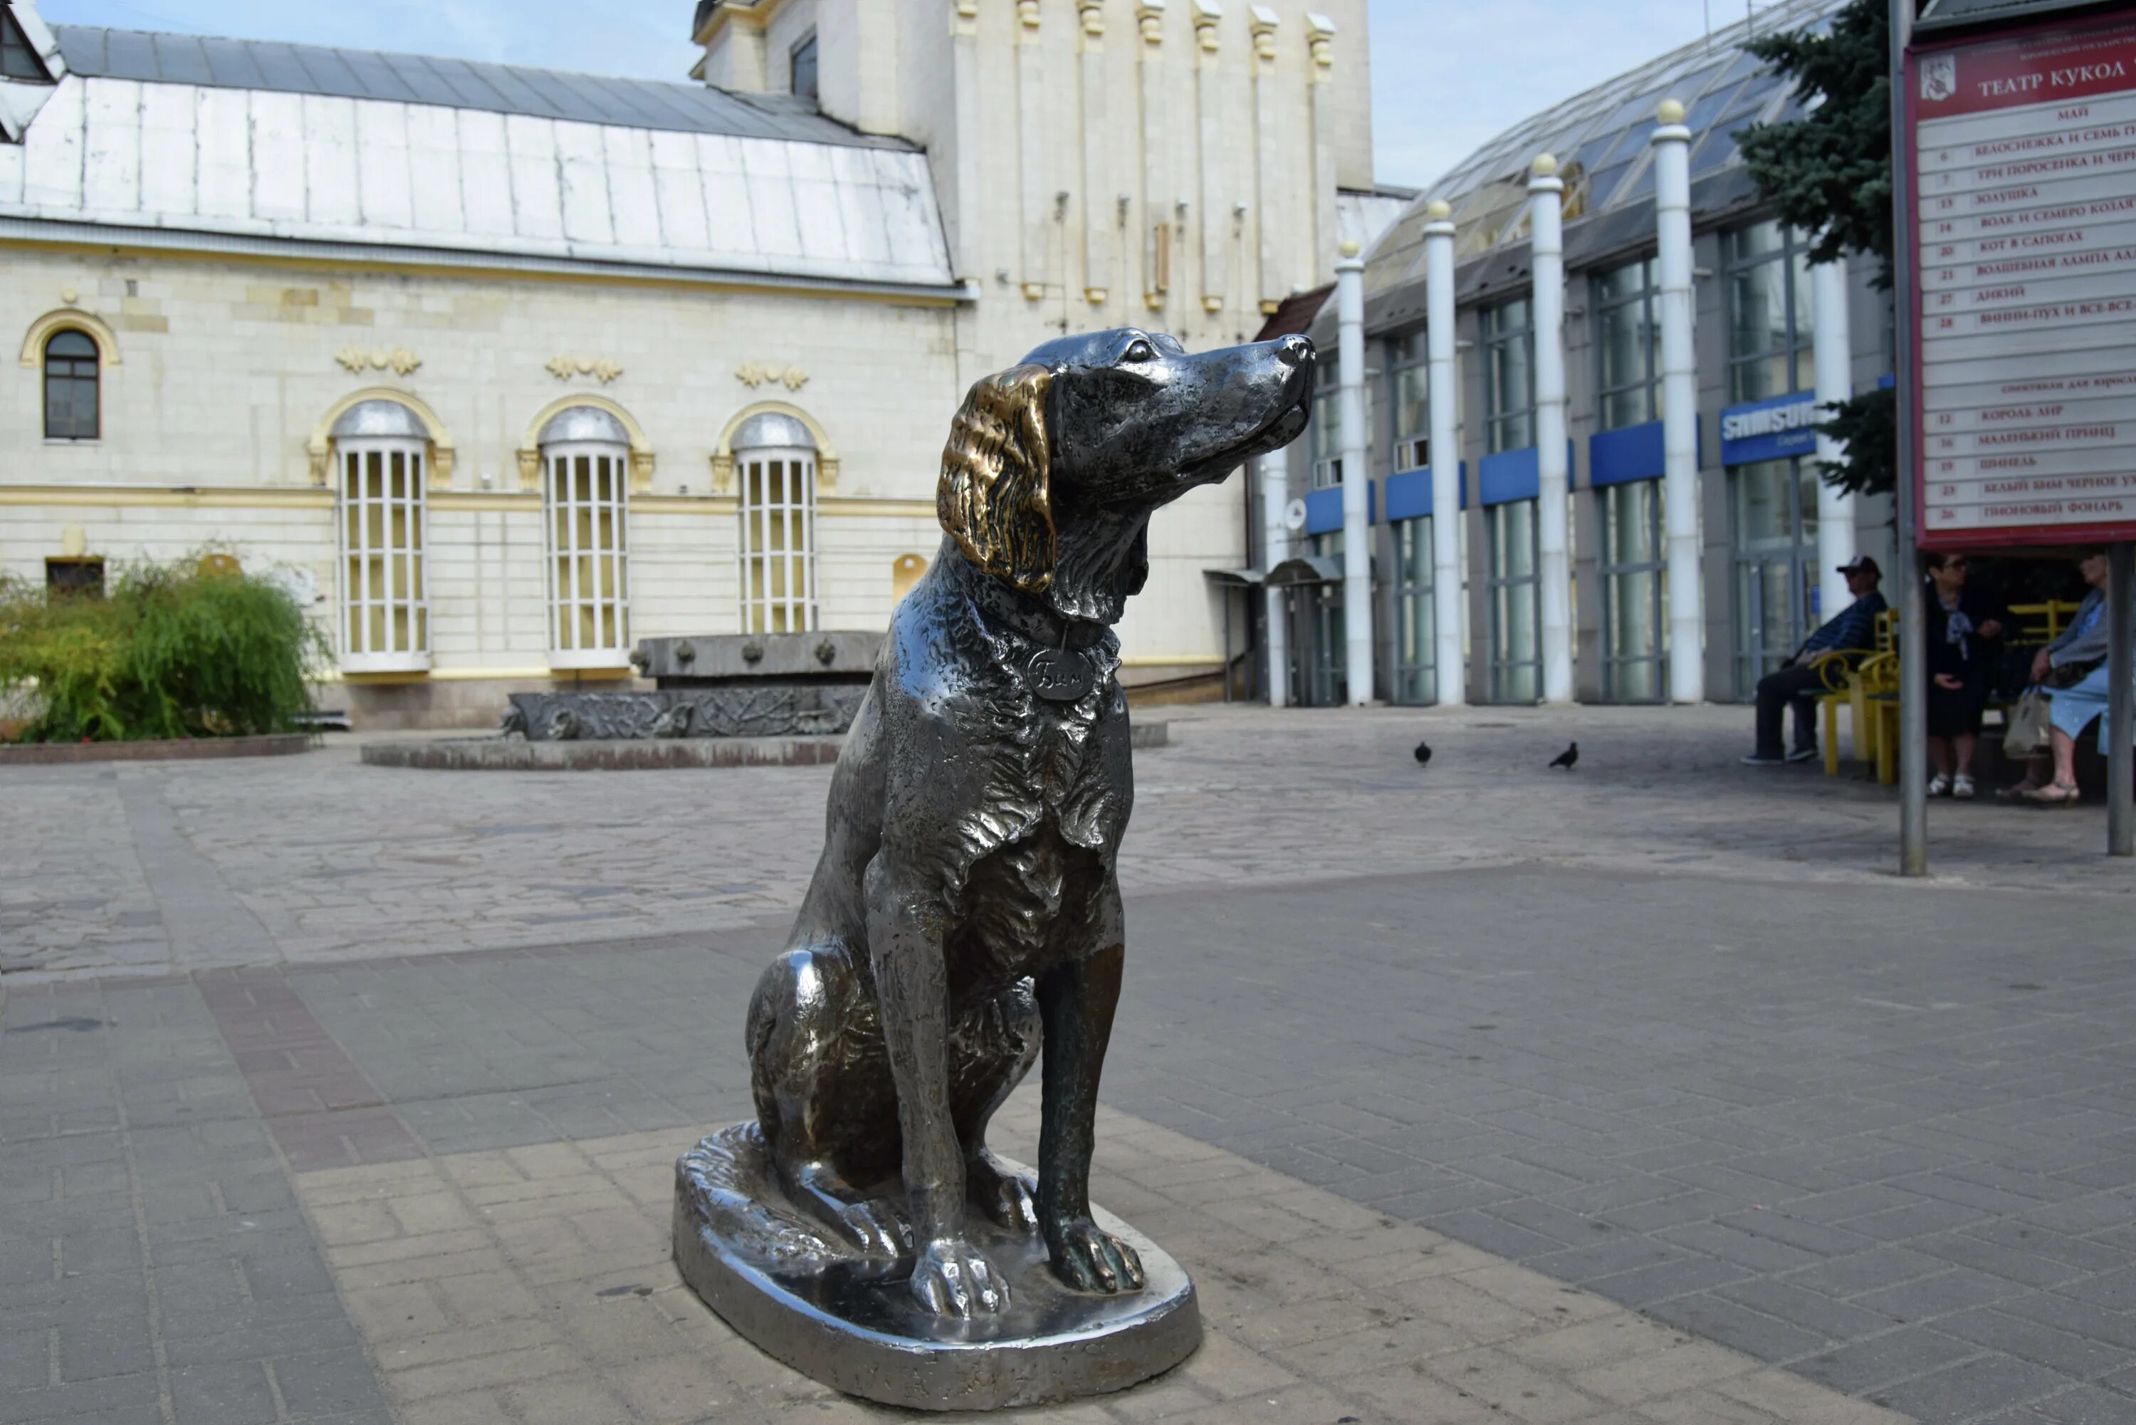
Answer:
[[[1211,1348],[1047,1419],[2136,1421],[2095,810],[1937,805],[1920,884],[1728,709],[1173,731],[1100,1201]],[[271,761],[0,780],[0,1421],[882,1419],[658,1243],[824,773]]]

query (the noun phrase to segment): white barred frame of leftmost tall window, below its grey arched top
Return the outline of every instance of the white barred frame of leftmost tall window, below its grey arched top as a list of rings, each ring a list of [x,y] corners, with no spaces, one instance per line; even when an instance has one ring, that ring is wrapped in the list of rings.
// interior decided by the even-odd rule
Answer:
[[[402,461],[402,494],[393,494],[393,461]],[[429,442],[408,436],[346,436],[333,442],[335,530],[342,581],[342,671],[423,673],[429,669]],[[378,474],[372,494],[363,474]],[[372,528],[372,513],[378,528]],[[395,541],[395,513],[399,532]],[[374,534],[378,536],[374,543]],[[393,590],[399,566],[402,585]],[[378,588],[384,583],[384,588]],[[372,613],[380,613],[372,626]],[[374,637],[382,635],[382,637]]]

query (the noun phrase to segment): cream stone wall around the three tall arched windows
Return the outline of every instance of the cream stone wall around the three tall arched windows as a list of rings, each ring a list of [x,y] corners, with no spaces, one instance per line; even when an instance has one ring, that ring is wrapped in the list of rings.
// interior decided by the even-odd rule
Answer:
[[[619,404],[654,453],[651,489],[632,494],[634,637],[739,626],[737,511],[711,489],[711,455],[760,400],[805,410],[837,453],[818,517],[827,628],[880,628],[893,560],[933,558],[940,538],[951,308],[11,250],[0,333],[19,350],[53,310],[111,327],[120,361],[103,372],[96,442],[41,440],[43,372],[0,365],[0,568],[19,577],[43,579],[68,528],[113,562],[226,543],[248,568],[310,573],[331,626],[333,489],[314,483],[308,440],[337,400],[372,387],[423,402],[453,447],[449,487],[425,494],[434,675],[525,677],[547,662],[540,496],[521,489],[517,451],[536,412],[570,393]],[[335,359],[348,348],[365,353],[361,374]],[[421,365],[370,365],[393,350]],[[545,370],[557,355],[622,374],[557,380]],[[735,376],[745,363],[807,378],[752,389]]]

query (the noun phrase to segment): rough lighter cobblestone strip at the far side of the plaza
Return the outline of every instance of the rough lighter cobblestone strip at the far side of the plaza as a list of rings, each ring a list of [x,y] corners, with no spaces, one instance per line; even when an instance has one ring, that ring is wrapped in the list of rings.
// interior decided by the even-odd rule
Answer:
[[[1540,861],[1882,880],[1888,788],[1737,765],[1747,709],[1160,709],[1130,891]],[[1410,748],[1438,756],[1418,771]],[[1581,739],[1570,776],[1546,769]],[[299,758],[6,769],[34,835],[0,880],[0,972],[320,964],[718,931],[778,919],[829,769],[440,773]],[[1937,803],[1942,884],[2130,895],[2104,810]]]

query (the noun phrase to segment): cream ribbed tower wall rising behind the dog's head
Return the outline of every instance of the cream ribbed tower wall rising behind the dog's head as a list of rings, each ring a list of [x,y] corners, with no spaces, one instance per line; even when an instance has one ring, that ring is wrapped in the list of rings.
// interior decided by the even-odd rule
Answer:
[[[1331,278],[1337,235],[1320,231],[1333,226],[1320,212],[1333,214],[1335,201],[1329,192],[1322,203],[1318,186],[1371,186],[1363,0],[1267,0],[1265,9],[1277,17],[1271,60],[1256,56],[1254,6],[1245,0],[1222,0],[1209,30],[1196,26],[1194,0],[1168,0],[1156,11],[1136,0],[895,0],[876,6],[859,0],[871,24],[895,28],[867,45],[844,38],[854,32],[848,17],[854,2],[786,0],[760,11],[773,32],[803,24],[803,13],[818,26],[827,113],[927,147],[953,267],[980,291],[957,329],[959,391],[1062,331],[1138,325],[1171,331],[1194,350],[1247,342],[1265,320],[1265,299]],[[1314,62],[1307,13],[1335,21],[1326,71]],[[1027,26],[1027,17],[1038,24]],[[1153,19],[1156,43],[1145,34],[1145,17]],[[735,13],[720,26],[707,73],[724,73],[722,49],[750,24]],[[1213,53],[1203,49],[1205,34],[1215,43]],[[1032,94],[1023,85],[1025,43],[1040,56]],[[1085,98],[1083,75],[1091,49],[1102,75],[1096,103]],[[1147,88],[1145,64],[1158,68]],[[1271,85],[1267,122],[1256,120],[1256,71]],[[1314,165],[1318,75],[1333,90],[1333,175]],[[1205,81],[1218,141],[1207,154],[1211,182],[1205,182],[1198,109]],[[957,122],[959,85],[968,85],[970,132]],[[782,73],[771,75],[769,88],[784,88]],[[1147,115],[1145,92],[1156,100]],[[1025,124],[1036,124],[1036,147],[1025,143]],[[1273,184],[1262,182],[1262,135],[1271,145]],[[963,152],[965,145],[974,152]],[[1036,214],[1025,201],[1027,152],[1040,162],[1032,184],[1040,194]],[[959,173],[974,177],[976,192],[959,192]],[[1066,205],[1057,207],[1055,194],[1066,194]],[[1126,216],[1121,197],[1128,199]],[[1237,214],[1237,205],[1245,212]],[[1042,241],[1034,244],[1036,269],[1025,263],[1027,218],[1042,229]],[[1173,222],[1171,282],[1151,306],[1145,299],[1151,288],[1147,235],[1160,218]],[[1213,269],[1203,263],[1211,224]],[[1104,276],[1100,301],[1091,301],[1094,229],[1100,237],[1096,271]],[[1273,291],[1262,291],[1262,229],[1275,250],[1273,269],[1282,273]],[[1213,310],[1205,297],[1218,297]],[[942,406],[944,425],[953,400]],[[1245,481],[1232,476],[1160,511],[1149,553],[1149,585],[1128,605],[1121,624],[1132,671],[1211,667],[1224,624],[1203,570],[1237,568],[1247,560]],[[1235,632],[1235,647],[1243,635]]]

